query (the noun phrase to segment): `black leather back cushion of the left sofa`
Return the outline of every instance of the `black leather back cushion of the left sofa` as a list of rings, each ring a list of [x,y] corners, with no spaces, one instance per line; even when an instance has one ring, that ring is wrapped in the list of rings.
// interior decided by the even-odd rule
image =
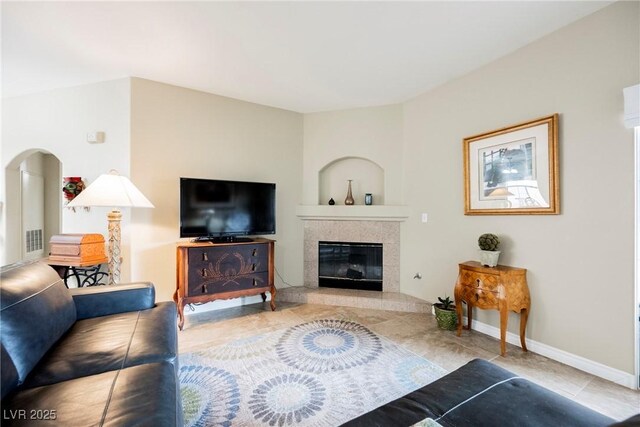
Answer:
[[[75,320],[73,299],[53,268],[42,262],[2,268],[2,346],[15,365],[19,383]]]

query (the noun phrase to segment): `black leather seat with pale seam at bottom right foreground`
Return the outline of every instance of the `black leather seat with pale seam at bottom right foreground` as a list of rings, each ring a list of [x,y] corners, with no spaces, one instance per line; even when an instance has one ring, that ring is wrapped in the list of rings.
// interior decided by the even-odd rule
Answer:
[[[493,363],[475,359],[343,425],[412,426],[426,418],[445,427],[602,427],[615,422]]]

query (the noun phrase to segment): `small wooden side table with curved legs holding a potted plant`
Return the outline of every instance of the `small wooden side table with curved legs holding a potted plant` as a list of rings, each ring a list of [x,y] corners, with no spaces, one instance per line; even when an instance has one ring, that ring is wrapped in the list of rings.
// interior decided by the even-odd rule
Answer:
[[[498,265],[484,267],[479,262],[467,261],[459,266],[458,280],[454,289],[458,333],[462,333],[462,302],[467,303],[467,326],[471,329],[473,307],[496,309],[500,312],[500,355],[506,353],[505,338],[509,310],[520,313],[520,344],[527,351],[525,329],[531,309],[531,297],[527,286],[527,270]]]

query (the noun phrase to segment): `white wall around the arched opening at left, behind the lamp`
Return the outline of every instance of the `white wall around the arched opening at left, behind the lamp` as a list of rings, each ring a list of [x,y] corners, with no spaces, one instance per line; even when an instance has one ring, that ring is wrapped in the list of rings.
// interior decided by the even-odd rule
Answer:
[[[38,149],[51,153],[62,163],[63,176],[81,176],[90,184],[100,174],[117,169],[129,174],[129,79],[84,85],[73,88],[6,98],[2,100],[2,166],[4,170],[25,151]],[[104,144],[89,144],[86,134],[104,131]],[[9,188],[5,188],[9,185]],[[7,211],[5,203],[13,194],[11,183],[3,182],[2,240],[7,231],[19,224],[19,212]],[[62,192],[62,182],[58,191]],[[7,197],[6,197],[7,196]],[[11,207],[9,207],[11,208]],[[62,212],[62,232],[96,232],[107,235],[107,209],[93,208],[90,212],[69,209]],[[122,279],[129,277],[128,245],[129,213],[123,215],[123,264]],[[15,243],[9,242],[11,245]],[[14,253],[6,248],[7,254]],[[0,260],[2,264],[16,261],[11,257]]]

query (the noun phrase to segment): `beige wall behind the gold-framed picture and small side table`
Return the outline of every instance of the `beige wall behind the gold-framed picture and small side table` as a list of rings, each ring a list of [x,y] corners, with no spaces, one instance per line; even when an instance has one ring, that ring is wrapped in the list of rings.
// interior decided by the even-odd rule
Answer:
[[[429,213],[403,227],[404,292],[451,294],[456,264],[476,258],[477,236],[496,233],[501,263],[529,270],[527,336],[633,372],[633,131],[622,89],[640,80],[638,17],[638,2],[616,3],[404,104],[405,199]],[[462,139],[555,112],[562,214],[464,216]],[[499,325],[497,312],[478,318]]]

